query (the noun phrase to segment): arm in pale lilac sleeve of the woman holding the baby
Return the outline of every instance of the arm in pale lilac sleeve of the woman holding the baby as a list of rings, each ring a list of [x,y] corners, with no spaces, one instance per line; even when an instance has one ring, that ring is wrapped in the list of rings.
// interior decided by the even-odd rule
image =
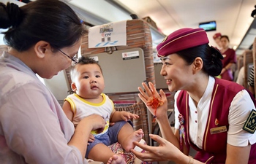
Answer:
[[[1,102],[0,135],[26,163],[83,163],[91,129],[104,127],[105,121],[83,120],[75,130],[52,96],[33,83],[15,87]]]

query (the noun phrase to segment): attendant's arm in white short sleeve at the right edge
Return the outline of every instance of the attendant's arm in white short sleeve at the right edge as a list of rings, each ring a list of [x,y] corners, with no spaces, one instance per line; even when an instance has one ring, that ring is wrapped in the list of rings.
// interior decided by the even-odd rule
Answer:
[[[241,90],[233,98],[228,115],[226,163],[248,163],[250,145],[255,144],[256,133],[243,130],[244,123],[255,105],[246,90]]]

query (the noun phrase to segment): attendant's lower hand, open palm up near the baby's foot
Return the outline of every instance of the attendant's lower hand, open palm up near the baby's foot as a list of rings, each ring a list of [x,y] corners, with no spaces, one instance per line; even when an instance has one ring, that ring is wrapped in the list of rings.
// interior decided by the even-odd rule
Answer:
[[[131,152],[136,155],[140,160],[143,161],[177,161],[179,157],[185,156],[177,147],[173,144],[161,138],[160,136],[150,134],[149,135],[154,141],[159,143],[159,147],[151,147],[145,144],[140,144],[139,142],[134,142],[134,144],[145,152],[137,152],[131,149]]]

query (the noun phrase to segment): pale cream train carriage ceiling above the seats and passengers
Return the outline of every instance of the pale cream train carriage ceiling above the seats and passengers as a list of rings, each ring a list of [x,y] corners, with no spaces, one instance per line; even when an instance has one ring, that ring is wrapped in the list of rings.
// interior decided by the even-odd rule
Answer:
[[[30,0],[1,0],[11,1],[20,6]],[[21,1],[21,2],[20,2]],[[32,0],[33,1],[33,0]],[[256,1],[252,0],[66,0],[81,19],[91,26],[105,23],[130,20],[131,14],[138,18],[151,18],[153,47],[162,39],[178,28],[198,28],[199,23],[216,21],[216,31],[208,31],[210,45],[216,46],[212,36],[215,33],[227,35],[230,47],[241,55],[249,48],[256,36],[254,17]],[[150,21],[150,20],[148,20]],[[1,43],[1,42],[0,42]]]

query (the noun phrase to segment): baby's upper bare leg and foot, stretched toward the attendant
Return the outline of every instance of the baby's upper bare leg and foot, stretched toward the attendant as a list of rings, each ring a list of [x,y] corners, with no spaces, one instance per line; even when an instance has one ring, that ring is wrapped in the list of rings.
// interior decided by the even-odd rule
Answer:
[[[135,145],[134,141],[140,141],[143,138],[144,133],[142,129],[133,131],[133,128],[129,123],[126,123],[118,133],[118,141],[121,146],[125,149],[126,152],[129,152],[130,149],[133,149]]]

